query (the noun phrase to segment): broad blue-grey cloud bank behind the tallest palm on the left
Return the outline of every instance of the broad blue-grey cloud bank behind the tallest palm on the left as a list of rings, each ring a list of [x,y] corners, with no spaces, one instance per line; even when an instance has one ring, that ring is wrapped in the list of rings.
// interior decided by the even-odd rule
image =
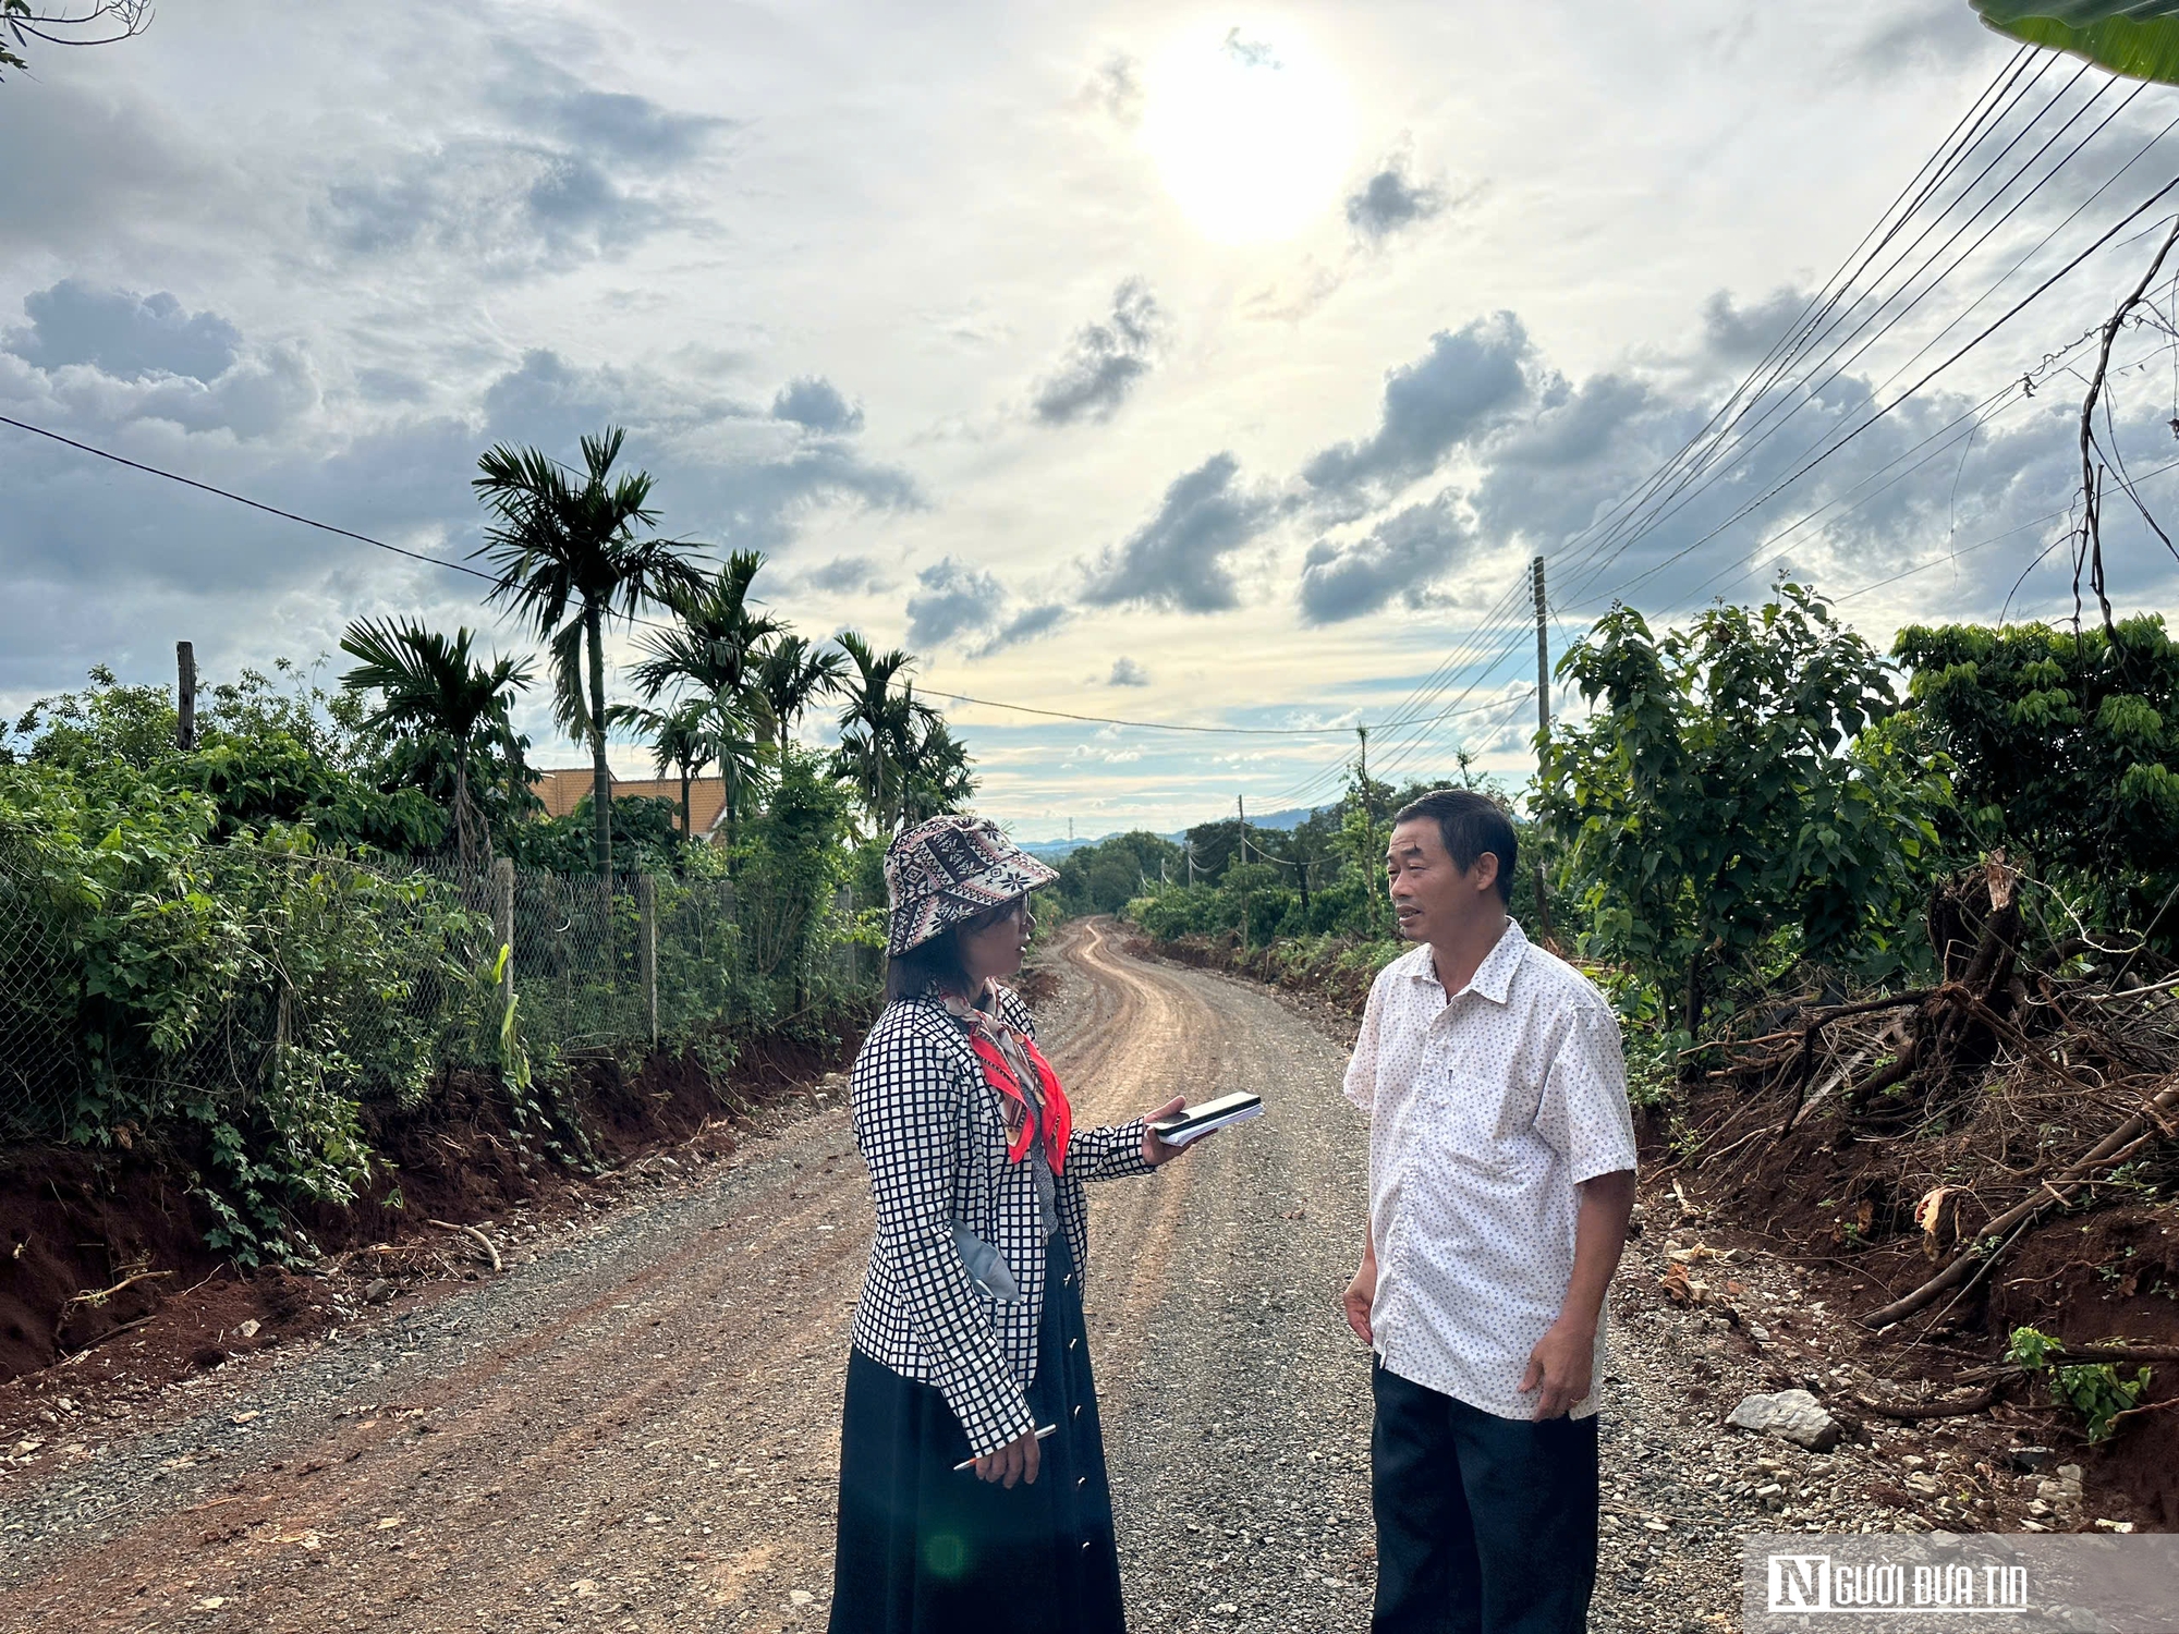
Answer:
[[[157,318],[150,301],[144,307]],[[625,466],[656,477],[660,525],[717,549],[791,547],[821,505],[922,503],[906,473],[684,375],[534,351],[436,412],[399,394],[329,407],[303,353],[259,346],[248,333],[231,344],[233,362],[209,383],[176,373],[131,379],[98,362],[41,368],[0,351],[0,410],[455,562],[479,540],[468,479],[482,449],[536,442],[573,460],[577,434],[608,423],[628,427]],[[105,349],[115,366],[144,359],[113,346],[107,331],[89,331],[89,344],[54,357]],[[35,333],[22,349],[39,351]],[[15,431],[0,429],[0,453],[9,471],[0,571],[11,586],[0,599],[0,691],[65,684],[92,660],[161,673],[170,662],[161,647],[170,656],[176,636],[198,643],[211,673],[231,675],[235,662],[327,651],[362,612],[479,621],[477,584],[442,569]]]

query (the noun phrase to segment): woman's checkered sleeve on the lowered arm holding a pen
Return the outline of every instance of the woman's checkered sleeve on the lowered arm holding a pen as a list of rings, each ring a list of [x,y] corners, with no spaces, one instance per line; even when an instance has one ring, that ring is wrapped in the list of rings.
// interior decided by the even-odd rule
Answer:
[[[869,1166],[876,1251],[900,1277],[933,1383],[961,1420],[970,1451],[983,1458],[1037,1423],[952,1240],[961,1094],[959,1065],[906,1028],[854,1068],[856,1144]]]

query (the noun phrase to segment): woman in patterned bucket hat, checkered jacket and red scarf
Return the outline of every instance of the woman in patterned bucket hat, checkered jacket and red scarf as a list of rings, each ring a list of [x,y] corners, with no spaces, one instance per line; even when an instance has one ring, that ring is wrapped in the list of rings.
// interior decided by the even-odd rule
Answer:
[[[1177,1157],[1144,1124],[1181,1102],[1072,1129],[1028,1007],[1000,985],[1028,946],[1028,893],[1055,878],[978,817],[885,852],[887,1007],[854,1061],[878,1233],[848,1355],[832,1634],[1124,1627],[1083,1181]]]

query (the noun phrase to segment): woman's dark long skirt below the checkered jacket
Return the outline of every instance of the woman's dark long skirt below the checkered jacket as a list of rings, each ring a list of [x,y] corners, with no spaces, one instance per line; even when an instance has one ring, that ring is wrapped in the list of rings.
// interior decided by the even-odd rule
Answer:
[[[1105,1436],[1081,1277],[1052,1235],[1028,1407],[1057,1425],[1037,1484],[954,1471],[967,1436],[935,1386],[848,1353],[832,1634],[1122,1634]]]

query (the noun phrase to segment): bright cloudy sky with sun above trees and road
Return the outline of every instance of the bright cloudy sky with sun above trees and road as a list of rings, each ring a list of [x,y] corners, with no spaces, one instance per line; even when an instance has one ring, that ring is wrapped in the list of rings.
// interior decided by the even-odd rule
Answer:
[[[917,654],[1022,839],[1327,800],[1358,723],[1373,771],[1517,791],[1534,556],[1554,660],[1780,571],[1878,645],[2072,614],[2079,338],[2179,194],[1872,416],[2179,174],[2179,92],[2064,59],[1972,157],[1965,259],[1599,532],[2011,57],[1965,0],[170,4],[0,83],[0,414],[447,560],[484,449],[623,425],[667,532]],[[2135,475],[2179,453],[2172,357],[2114,349]],[[2114,601],[2166,608],[2172,553],[2107,516]],[[170,680],[176,638],[325,682],[351,619],[538,645],[460,573],[11,427],[0,564],[11,712]]]

